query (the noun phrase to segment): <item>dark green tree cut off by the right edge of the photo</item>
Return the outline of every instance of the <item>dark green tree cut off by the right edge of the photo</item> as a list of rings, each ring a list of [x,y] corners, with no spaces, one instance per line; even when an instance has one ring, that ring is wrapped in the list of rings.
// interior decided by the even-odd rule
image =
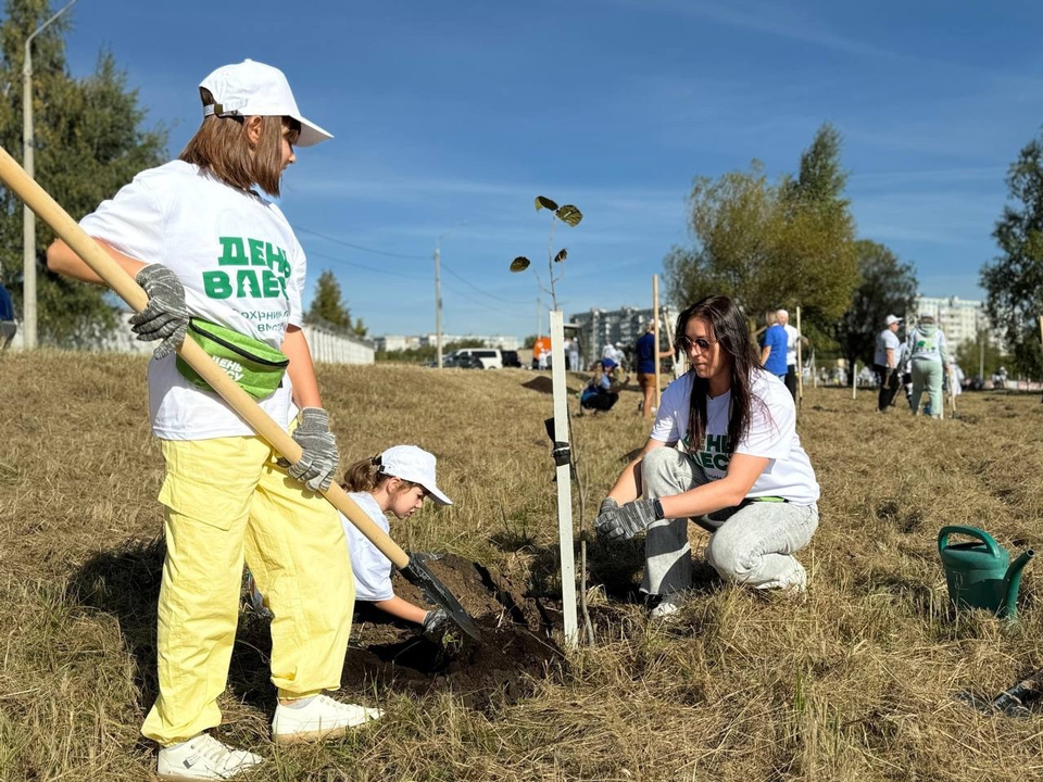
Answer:
[[[1043,137],[1029,141],[1007,171],[1007,195],[992,232],[1001,255],[981,269],[985,312],[1003,335],[1014,366],[1031,377],[1043,368]],[[1008,367],[1009,368],[1009,367]]]

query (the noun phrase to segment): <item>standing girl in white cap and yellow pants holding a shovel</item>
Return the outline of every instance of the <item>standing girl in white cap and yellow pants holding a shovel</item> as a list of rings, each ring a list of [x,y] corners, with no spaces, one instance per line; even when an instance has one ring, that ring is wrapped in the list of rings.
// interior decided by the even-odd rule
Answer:
[[[261,762],[205,732],[221,723],[243,558],[275,615],[275,741],[343,734],[379,716],[322,694],[340,685],[351,630],[343,607],[353,596],[343,529],[318,493],[337,469],[337,445],[301,330],[304,252],[262,195],[279,194],[294,146],[331,136],[301,115],[282,73],[257,62],[214,71],[200,97],[203,122],[180,157],[142,172],[81,222],[149,295],[130,320],[138,339],[162,340],[149,364],[149,406],[166,463],[167,555],[160,692],[142,733],[161,745],[160,775],[179,780],[228,779]],[[61,241],[48,250],[48,265],[100,282]],[[186,332],[199,341],[199,329],[219,333],[244,362],[262,357],[243,389],[293,429],[303,450],[296,464],[281,466],[175,361]],[[288,366],[271,360],[278,351]],[[242,384],[240,364],[226,366]]]

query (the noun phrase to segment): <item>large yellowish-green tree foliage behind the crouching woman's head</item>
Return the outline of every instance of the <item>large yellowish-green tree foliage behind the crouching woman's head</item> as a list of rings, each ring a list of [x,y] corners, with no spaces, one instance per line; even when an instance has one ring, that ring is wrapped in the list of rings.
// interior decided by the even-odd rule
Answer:
[[[757,161],[749,171],[696,178],[690,218],[695,243],[675,247],[665,261],[671,300],[687,306],[724,293],[751,316],[800,305],[802,325],[831,331],[857,282],[839,154],[839,135],[824,125],[795,179],[772,185]]]

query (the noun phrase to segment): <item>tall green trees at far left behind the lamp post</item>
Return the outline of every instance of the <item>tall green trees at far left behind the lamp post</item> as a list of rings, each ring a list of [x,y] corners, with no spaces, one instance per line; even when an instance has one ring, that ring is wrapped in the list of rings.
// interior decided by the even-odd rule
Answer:
[[[22,67],[26,37],[53,13],[47,0],[8,0],[0,23],[0,144],[22,161]],[[70,12],[33,40],[36,179],[79,219],[135,174],[166,157],[166,128],[144,129],[144,109],[126,74],[102,51],[95,72],[74,79],[65,64]],[[0,278],[22,311],[22,202],[0,189]],[[54,239],[37,219],[37,300],[40,341],[89,343],[115,324],[104,289],[47,272]]]

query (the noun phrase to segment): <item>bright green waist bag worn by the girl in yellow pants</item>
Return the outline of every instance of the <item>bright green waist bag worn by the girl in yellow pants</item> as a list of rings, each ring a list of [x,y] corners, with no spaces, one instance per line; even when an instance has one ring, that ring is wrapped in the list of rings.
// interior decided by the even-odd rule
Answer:
[[[253,399],[272,394],[282,382],[290,360],[267,342],[253,339],[209,320],[192,318],[188,336],[213,358],[228,377]],[[205,380],[180,356],[177,370],[186,380],[203,391],[213,391]]]

